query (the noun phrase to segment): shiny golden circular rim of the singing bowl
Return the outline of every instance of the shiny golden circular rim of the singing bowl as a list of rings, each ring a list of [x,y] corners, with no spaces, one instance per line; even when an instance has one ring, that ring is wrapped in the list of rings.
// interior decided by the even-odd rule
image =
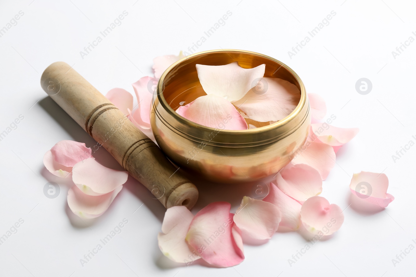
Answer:
[[[163,90],[164,90],[163,82],[164,82],[164,79],[165,79],[166,75],[169,74],[170,71],[175,69],[176,66],[178,66],[182,62],[186,61],[187,59],[191,59],[191,58],[194,58],[196,56],[203,55],[203,54],[209,54],[209,53],[214,53],[214,52],[230,52],[230,51],[231,52],[240,52],[240,53],[258,55],[258,56],[261,56],[263,58],[270,59],[270,60],[276,62],[277,64],[280,64],[280,67],[283,67],[287,71],[289,71],[290,74],[292,74],[295,77],[296,81],[299,83],[299,86],[300,86],[300,101],[297,104],[295,110],[292,111],[292,113],[287,115],[282,120],[277,121],[276,123],[272,123],[270,125],[266,125],[266,126],[263,126],[263,127],[258,127],[258,128],[253,128],[253,129],[246,129],[246,130],[226,130],[226,129],[225,130],[220,130],[220,132],[222,134],[224,134],[224,135],[240,135],[240,134],[241,135],[242,134],[249,135],[249,134],[257,134],[257,133],[261,133],[261,132],[265,132],[265,131],[270,131],[270,130],[277,129],[277,128],[289,123],[293,118],[295,118],[297,115],[300,114],[302,109],[305,107],[305,104],[307,103],[307,95],[306,95],[305,86],[304,86],[302,80],[300,79],[300,77],[296,74],[296,72],[293,71],[293,69],[291,69],[289,66],[287,66],[286,64],[282,63],[281,61],[279,61],[275,58],[272,58],[270,56],[260,54],[260,53],[257,53],[257,52],[248,51],[248,50],[239,50],[239,49],[215,49],[215,50],[202,51],[202,52],[198,52],[198,53],[188,55],[188,56],[174,62],[173,64],[171,64],[171,66],[169,66],[163,72],[162,76],[160,77],[160,79],[158,81],[158,85],[157,85],[157,98],[159,100],[159,103],[162,105],[163,109],[166,110],[168,112],[168,114],[171,115],[174,119],[178,120],[179,122],[181,122],[183,124],[186,124],[187,126],[192,126],[193,128],[198,128],[199,130],[206,131],[206,132],[213,132],[213,131],[217,130],[217,129],[212,128],[212,127],[207,127],[207,126],[204,126],[204,125],[200,125],[198,123],[194,123],[193,121],[188,120],[188,119],[184,118],[183,116],[179,115],[178,113],[176,113],[176,111],[171,108],[171,106],[168,104],[165,97],[163,96]],[[161,91],[161,93],[158,93],[159,91]]]

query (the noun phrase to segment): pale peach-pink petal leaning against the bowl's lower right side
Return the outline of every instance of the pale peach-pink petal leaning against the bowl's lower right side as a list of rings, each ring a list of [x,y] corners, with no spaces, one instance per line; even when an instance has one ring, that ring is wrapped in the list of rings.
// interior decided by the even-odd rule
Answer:
[[[335,165],[334,148],[321,142],[306,141],[292,159],[293,164],[307,164],[321,174],[322,180],[327,179]]]

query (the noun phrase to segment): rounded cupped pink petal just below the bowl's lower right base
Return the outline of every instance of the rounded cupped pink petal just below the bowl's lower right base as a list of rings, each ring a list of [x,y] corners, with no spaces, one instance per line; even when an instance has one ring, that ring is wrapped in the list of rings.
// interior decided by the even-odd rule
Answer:
[[[298,201],[322,192],[321,174],[307,164],[289,164],[277,174],[276,182],[281,191]]]

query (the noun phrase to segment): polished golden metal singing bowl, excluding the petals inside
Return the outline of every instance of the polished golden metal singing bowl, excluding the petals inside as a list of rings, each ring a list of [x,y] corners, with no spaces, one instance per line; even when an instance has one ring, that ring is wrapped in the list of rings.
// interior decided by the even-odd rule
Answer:
[[[301,93],[295,110],[277,123],[249,130],[214,129],[175,112],[181,102],[206,95],[196,64],[234,61],[243,68],[266,64],[265,77],[295,84]],[[178,167],[210,181],[236,183],[276,174],[295,157],[309,132],[310,108],[305,86],[287,65],[251,51],[221,49],[192,54],[169,66],[158,81],[150,118],[158,145]]]

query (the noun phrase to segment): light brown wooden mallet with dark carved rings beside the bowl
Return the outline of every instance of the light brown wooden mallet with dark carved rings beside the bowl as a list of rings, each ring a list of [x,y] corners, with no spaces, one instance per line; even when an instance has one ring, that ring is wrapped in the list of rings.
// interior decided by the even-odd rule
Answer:
[[[154,194],[154,199],[166,208],[193,207],[198,199],[196,186],[177,171],[149,137],[68,64],[55,62],[48,66],[41,85],[131,176]]]

